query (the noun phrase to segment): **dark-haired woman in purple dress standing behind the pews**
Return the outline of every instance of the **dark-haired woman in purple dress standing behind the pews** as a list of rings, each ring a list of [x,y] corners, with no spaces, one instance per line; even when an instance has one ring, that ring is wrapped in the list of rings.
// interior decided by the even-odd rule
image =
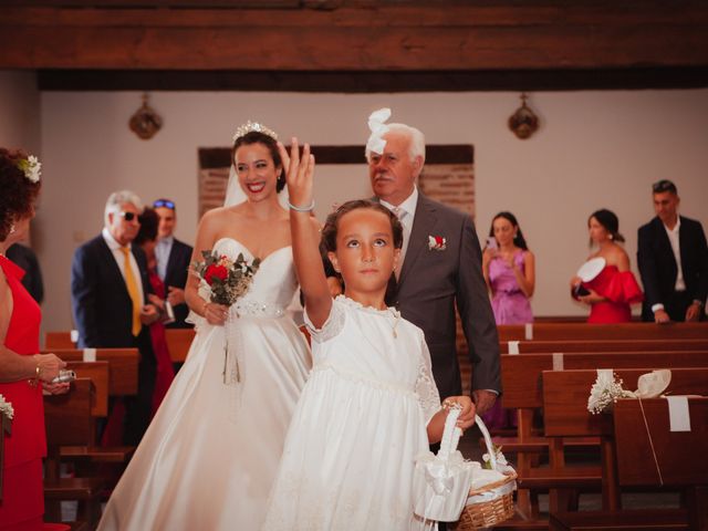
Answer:
[[[482,254],[482,272],[491,293],[497,324],[533,322],[529,299],[535,284],[535,259],[513,214],[499,212],[492,219]],[[500,400],[482,418],[491,429],[517,425],[516,412],[504,409]]]

